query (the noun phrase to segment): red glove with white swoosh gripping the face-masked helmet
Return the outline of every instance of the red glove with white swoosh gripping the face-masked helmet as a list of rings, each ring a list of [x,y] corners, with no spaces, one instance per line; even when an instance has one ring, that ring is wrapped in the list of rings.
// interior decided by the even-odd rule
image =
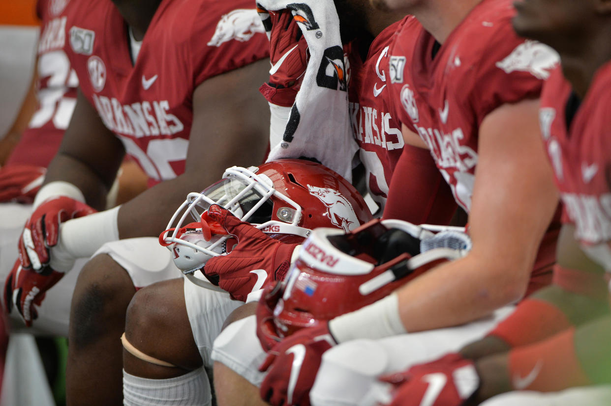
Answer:
[[[241,221],[216,204],[210,206],[208,216],[238,240],[229,254],[208,260],[202,269],[208,279],[218,280],[219,287],[243,302],[251,291],[263,288],[265,282],[284,279],[298,244],[269,238],[251,223]]]

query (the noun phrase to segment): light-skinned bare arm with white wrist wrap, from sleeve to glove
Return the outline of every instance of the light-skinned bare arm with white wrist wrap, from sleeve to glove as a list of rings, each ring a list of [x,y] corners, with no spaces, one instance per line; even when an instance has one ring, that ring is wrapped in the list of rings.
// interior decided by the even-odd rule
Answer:
[[[388,334],[463,324],[524,295],[558,201],[540,140],[538,101],[494,110],[481,124],[479,137],[469,216],[473,248],[466,257],[426,272],[382,299],[385,304],[375,313],[387,316],[382,319],[393,326]],[[331,321],[340,341],[362,335],[363,329],[350,327],[365,319],[358,312]]]

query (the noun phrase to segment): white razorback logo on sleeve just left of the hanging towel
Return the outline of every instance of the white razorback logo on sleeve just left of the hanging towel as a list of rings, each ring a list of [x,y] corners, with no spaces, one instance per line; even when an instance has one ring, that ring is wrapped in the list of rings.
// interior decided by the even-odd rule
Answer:
[[[257,32],[265,32],[255,9],[237,9],[221,17],[208,46],[221,46],[231,40],[246,42]]]

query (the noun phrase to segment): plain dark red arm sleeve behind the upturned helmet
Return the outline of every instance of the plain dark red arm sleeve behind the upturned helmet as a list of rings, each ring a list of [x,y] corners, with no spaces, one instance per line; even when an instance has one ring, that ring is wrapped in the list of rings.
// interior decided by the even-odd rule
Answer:
[[[456,212],[450,187],[427,149],[406,145],[390,180],[384,218],[414,224],[450,224]]]

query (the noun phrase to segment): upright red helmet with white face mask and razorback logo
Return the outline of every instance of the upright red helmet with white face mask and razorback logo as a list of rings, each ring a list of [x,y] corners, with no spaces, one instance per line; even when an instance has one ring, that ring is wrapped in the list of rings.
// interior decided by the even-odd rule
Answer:
[[[188,276],[209,258],[230,252],[235,244],[222,235],[224,229],[210,229],[210,221],[202,221],[211,204],[227,208],[286,243],[301,243],[316,227],[335,226],[348,232],[372,218],[356,189],[320,163],[286,159],[251,168],[233,166],[202,193],[189,193],[159,236],[159,242],[173,252],[177,267]]]

